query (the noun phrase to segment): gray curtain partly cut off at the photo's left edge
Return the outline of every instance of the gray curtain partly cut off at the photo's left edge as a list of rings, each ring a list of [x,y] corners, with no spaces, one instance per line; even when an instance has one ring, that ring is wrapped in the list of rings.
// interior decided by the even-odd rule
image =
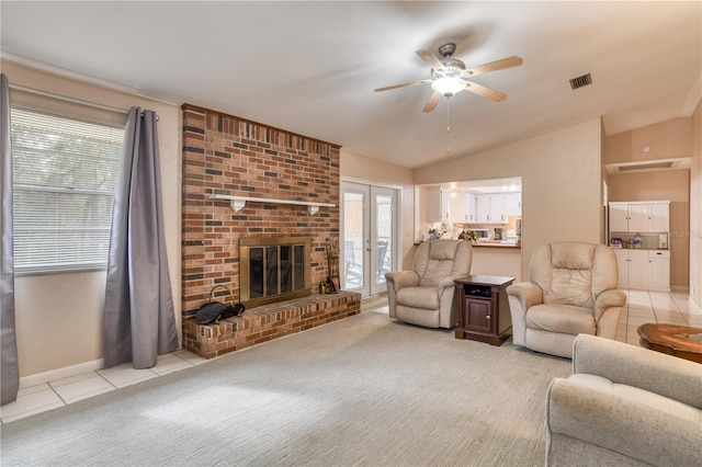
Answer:
[[[16,400],[20,388],[18,343],[14,334],[14,252],[12,239],[12,148],[10,143],[10,84],[0,75],[0,343],[2,367],[0,403]]]

